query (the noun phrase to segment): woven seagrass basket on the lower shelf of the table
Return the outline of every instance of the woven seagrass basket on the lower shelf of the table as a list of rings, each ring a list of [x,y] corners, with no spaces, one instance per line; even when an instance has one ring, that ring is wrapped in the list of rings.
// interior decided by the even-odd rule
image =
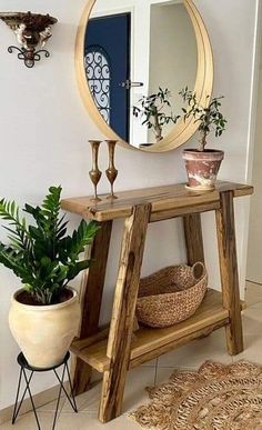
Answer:
[[[202,262],[171,266],[140,280],[137,318],[144,326],[164,328],[192,317],[208,289]]]

